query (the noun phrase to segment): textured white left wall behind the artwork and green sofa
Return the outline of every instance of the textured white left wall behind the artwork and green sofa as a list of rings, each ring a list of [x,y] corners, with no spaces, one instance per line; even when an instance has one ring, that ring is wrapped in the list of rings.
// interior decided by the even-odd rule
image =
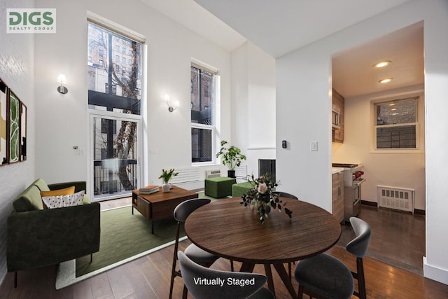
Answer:
[[[33,7],[34,1],[0,1],[0,78],[27,106],[27,161],[0,167],[0,284],[6,275],[6,218],[13,200],[34,181],[34,34],[7,34],[6,8]],[[2,107],[3,109],[3,107]]]

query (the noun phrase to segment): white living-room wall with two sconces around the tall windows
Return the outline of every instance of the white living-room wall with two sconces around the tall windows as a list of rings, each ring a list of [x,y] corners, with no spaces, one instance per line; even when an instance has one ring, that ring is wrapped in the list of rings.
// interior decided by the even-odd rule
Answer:
[[[36,38],[36,176],[48,183],[87,179],[87,11],[116,22],[146,38],[146,183],[160,183],[162,168],[190,167],[190,62],[200,60],[221,75],[221,135],[230,139],[230,53],[141,3],[123,1],[38,0],[57,8],[57,34]],[[57,74],[67,78],[60,95]],[[179,100],[170,113],[162,95]],[[57,141],[57,137],[63,137]],[[78,146],[84,155],[75,155]],[[207,167],[205,167],[207,168]],[[216,168],[216,165],[211,168]],[[201,172],[204,173],[204,172]]]

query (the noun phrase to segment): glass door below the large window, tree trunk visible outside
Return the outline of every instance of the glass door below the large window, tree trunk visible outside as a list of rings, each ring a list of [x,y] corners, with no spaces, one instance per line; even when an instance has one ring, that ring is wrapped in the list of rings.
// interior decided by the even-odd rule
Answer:
[[[139,186],[139,119],[92,114],[93,201],[126,197]]]

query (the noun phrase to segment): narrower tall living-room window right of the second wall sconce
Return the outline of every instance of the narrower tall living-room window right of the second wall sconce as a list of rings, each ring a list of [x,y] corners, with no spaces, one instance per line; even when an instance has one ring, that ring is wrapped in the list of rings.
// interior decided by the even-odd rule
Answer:
[[[191,66],[191,162],[214,160],[216,72]]]

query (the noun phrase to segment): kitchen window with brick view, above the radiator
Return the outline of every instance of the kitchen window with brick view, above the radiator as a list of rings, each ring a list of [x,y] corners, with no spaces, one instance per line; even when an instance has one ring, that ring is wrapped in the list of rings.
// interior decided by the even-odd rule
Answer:
[[[417,102],[411,97],[374,104],[377,149],[418,147]]]

